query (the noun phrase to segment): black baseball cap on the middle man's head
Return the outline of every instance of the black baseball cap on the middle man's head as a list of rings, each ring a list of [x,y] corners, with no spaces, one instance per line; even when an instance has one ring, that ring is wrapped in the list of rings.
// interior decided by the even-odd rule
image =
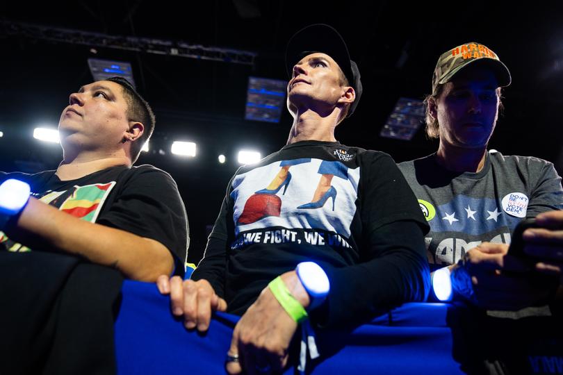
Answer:
[[[311,53],[325,53],[336,61],[338,67],[342,69],[344,76],[348,79],[348,83],[356,92],[356,99],[350,110],[348,116],[350,117],[358,106],[361,97],[361,81],[358,65],[350,60],[350,53],[348,47],[344,42],[342,36],[336,29],[327,24],[313,24],[302,28],[297,31],[289,40],[286,47],[286,69],[288,76],[293,75],[293,66],[299,62],[304,56]]]

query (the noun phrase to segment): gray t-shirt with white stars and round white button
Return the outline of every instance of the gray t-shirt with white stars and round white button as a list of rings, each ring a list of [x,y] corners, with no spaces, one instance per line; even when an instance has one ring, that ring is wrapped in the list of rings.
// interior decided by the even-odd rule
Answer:
[[[398,166],[430,224],[431,271],[457,263],[481,242],[509,243],[525,217],[563,209],[561,177],[539,158],[489,152],[478,173],[450,172],[435,154]]]

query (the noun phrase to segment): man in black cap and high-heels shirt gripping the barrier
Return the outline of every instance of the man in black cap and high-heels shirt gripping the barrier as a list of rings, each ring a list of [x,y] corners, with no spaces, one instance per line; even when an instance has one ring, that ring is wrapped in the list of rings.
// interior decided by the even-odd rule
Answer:
[[[286,146],[238,169],[192,280],[158,281],[187,328],[205,331],[212,310],[242,315],[231,374],[279,372],[300,323],[349,328],[429,287],[427,224],[395,163],[334,138],[362,90],[341,35],[302,29],[286,66]]]

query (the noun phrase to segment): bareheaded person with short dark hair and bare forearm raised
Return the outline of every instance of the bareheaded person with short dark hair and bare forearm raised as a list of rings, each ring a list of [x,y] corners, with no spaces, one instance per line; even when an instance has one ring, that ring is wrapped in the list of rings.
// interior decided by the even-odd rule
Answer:
[[[140,281],[182,275],[188,233],[177,185],[160,169],[132,167],[154,121],[149,104],[124,78],[70,94],[58,126],[58,168],[0,174],[0,182],[26,181],[32,193],[0,228],[7,235],[0,247],[70,253]]]

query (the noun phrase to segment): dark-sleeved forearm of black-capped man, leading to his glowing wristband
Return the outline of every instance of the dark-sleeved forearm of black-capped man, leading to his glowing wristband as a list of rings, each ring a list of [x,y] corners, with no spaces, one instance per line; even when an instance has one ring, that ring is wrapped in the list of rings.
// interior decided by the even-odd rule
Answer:
[[[323,325],[355,324],[401,303],[425,300],[430,272],[418,224],[386,225],[374,234],[371,246],[377,254],[371,260],[325,269],[331,290]]]

